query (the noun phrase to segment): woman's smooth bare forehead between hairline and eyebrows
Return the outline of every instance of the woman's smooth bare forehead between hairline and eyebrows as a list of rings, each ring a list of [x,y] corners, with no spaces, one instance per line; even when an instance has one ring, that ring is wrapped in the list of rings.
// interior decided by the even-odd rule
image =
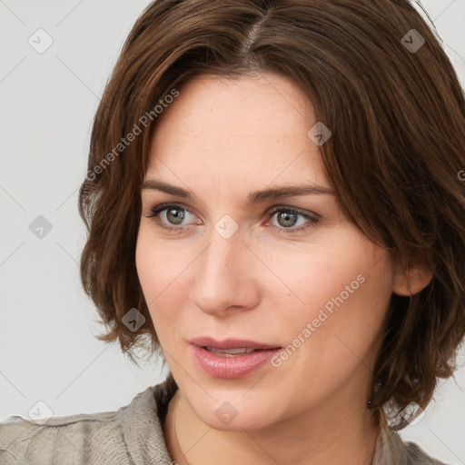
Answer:
[[[291,79],[203,75],[179,93],[157,119],[148,177],[328,184],[319,147],[307,134],[316,123],[312,104]]]

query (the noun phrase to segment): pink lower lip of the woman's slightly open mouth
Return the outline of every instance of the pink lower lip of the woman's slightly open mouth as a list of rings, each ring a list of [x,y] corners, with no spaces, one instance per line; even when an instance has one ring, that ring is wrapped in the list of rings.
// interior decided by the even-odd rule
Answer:
[[[222,357],[215,355],[211,351],[197,347],[191,344],[193,357],[197,361],[199,367],[205,373],[215,378],[242,378],[257,371],[270,361],[272,357],[281,351],[278,349],[270,349],[266,351],[254,351],[252,353],[244,353],[234,357]]]

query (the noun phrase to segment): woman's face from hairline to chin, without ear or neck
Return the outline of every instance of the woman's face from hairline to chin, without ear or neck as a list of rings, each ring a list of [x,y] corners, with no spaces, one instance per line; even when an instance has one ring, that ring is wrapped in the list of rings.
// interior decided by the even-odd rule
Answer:
[[[217,429],[342,419],[368,399],[393,265],[341,213],[317,145],[328,133],[308,134],[317,123],[278,74],[197,78],[157,122],[137,272],[180,392]],[[311,189],[267,193],[293,186]],[[226,357],[200,337],[285,351]]]

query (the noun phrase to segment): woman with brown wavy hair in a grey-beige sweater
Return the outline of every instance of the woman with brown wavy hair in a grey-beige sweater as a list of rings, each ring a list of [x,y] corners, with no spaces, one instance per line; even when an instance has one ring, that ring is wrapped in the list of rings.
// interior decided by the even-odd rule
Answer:
[[[465,99],[406,0],[158,0],[95,115],[82,281],[166,381],[0,463],[440,464],[396,430],[465,332]]]

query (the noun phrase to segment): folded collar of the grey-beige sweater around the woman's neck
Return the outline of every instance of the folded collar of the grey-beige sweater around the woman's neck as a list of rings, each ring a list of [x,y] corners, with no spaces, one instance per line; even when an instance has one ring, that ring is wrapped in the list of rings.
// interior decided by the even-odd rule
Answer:
[[[167,389],[163,381],[140,392],[118,411],[132,465],[173,463],[164,440],[162,421],[175,391],[176,388]],[[383,427],[371,465],[392,463],[408,463],[407,450],[397,432]]]

